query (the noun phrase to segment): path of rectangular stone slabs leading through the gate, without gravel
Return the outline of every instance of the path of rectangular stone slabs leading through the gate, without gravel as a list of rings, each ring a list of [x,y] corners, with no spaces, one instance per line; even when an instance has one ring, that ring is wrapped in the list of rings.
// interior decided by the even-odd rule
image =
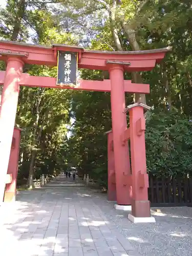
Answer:
[[[137,256],[94,202],[98,194],[60,176],[42,189],[20,191],[0,208],[3,256]]]

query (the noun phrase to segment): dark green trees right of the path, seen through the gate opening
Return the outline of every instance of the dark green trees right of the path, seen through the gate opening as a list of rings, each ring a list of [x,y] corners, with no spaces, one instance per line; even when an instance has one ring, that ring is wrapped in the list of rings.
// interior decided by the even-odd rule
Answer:
[[[107,138],[111,129],[110,95],[102,92],[77,92],[73,94],[69,155],[82,173],[93,179],[106,181]],[[70,157],[69,157],[70,156]],[[105,177],[105,178],[104,178]]]

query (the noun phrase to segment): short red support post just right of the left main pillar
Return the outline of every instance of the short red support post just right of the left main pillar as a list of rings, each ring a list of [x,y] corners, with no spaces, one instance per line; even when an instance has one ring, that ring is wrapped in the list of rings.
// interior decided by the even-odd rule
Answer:
[[[20,131],[21,129],[17,127],[14,128],[11,153],[9,157],[9,165],[7,171],[7,173],[11,176],[11,183],[6,184],[4,202],[14,202],[16,197]]]

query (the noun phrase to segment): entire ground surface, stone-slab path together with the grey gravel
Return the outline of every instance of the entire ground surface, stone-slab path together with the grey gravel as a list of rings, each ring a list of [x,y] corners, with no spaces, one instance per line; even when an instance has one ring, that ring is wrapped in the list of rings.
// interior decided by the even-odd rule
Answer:
[[[0,207],[1,255],[192,255],[192,207],[152,209],[155,224],[135,225],[113,205],[63,177],[20,191],[17,202]]]

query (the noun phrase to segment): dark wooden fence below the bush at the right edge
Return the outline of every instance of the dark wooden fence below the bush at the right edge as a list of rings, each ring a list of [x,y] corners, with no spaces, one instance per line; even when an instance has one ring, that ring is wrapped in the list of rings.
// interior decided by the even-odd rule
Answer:
[[[149,178],[152,207],[192,206],[192,177]]]

